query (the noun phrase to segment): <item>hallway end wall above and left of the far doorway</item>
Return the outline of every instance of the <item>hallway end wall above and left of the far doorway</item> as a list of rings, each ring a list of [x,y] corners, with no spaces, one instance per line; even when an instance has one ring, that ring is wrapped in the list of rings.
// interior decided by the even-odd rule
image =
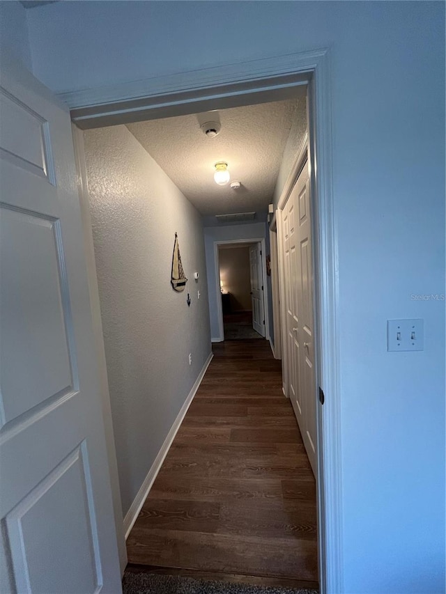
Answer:
[[[251,240],[265,237],[265,223],[247,223],[244,225],[225,225],[221,227],[204,228],[204,247],[206,249],[206,272],[208,275],[210,336],[213,341],[220,341],[220,326],[218,323],[217,299],[221,299],[220,281],[215,276],[214,243],[220,241]]]

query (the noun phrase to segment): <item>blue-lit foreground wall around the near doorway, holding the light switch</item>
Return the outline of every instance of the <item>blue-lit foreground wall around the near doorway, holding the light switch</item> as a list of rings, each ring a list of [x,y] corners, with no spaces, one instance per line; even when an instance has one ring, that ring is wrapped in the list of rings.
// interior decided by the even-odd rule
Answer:
[[[445,304],[410,295],[445,292],[444,3],[29,12],[36,75],[56,91],[330,48],[345,591],[443,591]],[[424,352],[386,352],[392,318],[424,318]]]

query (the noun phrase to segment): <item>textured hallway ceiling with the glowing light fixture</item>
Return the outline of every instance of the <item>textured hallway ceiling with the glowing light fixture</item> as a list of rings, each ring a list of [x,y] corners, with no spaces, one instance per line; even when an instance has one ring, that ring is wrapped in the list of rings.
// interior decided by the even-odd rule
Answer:
[[[302,98],[150,120],[128,129],[201,214],[266,212],[296,117],[306,117]],[[200,123],[208,120],[222,125],[215,138],[201,132]],[[214,182],[218,161],[227,162],[240,189]]]

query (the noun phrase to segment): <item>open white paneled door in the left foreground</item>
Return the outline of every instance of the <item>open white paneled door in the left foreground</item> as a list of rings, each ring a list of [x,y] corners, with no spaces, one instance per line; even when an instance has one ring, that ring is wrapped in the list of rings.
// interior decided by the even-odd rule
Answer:
[[[1,592],[118,593],[70,115],[6,58],[0,100]]]

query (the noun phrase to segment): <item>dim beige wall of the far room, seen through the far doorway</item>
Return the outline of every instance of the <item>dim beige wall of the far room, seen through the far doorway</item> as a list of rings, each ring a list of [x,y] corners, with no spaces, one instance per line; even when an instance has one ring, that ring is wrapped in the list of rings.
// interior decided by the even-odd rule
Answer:
[[[231,293],[233,311],[251,311],[251,282],[249,279],[249,248],[219,249],[220,280],[224,290]]]

